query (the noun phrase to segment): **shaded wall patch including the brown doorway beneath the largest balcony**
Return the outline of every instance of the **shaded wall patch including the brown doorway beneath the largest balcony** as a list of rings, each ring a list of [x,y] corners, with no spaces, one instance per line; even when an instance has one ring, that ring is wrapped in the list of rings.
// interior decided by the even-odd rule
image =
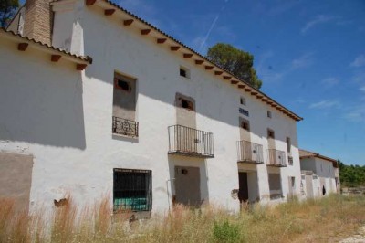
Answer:
[[[168,163],[172,204],[200,206],[209,202],[205,159],[170,154]]]

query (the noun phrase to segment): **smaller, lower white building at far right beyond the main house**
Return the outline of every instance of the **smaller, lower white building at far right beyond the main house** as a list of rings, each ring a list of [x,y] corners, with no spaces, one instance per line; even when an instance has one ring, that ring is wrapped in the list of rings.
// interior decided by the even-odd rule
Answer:
[[[299,150],[303,191],[307,198],[339,192],[339,166],[336,160],[319,153]]]

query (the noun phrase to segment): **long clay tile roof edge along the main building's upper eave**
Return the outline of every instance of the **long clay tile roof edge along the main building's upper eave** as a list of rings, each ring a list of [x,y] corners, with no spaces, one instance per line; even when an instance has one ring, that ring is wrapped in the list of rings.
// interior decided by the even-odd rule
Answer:
[[[177,43],[178,45],[182,46],[183,48],[186,48],[187,50],[193,52],[194,55],[198,56],[199,58],[202,58],[204,61],[212,63],[215,67],[217,67],[218,69],[222,69],[224,70],[224,72],[228,73],[229,75],[231,75],[232,77],[234,77],[237,80],[240,80],[241,82],[245,83],[245,85],[251,87],[253,90],[256,90],[257,93],[263,95],[264,97],[266,97],[268,100],[273,100],[272,98],[270,98],[269,96],[267,96],[265,93],[261,92],[260,90],[255,89],[254,87],[251,86],[251,84],[249,84],[248,82],[246,82],[243,79],[240,79],[238,77],[236,77],[233,73],[231,73],[230,71],[222,68],[221,66],[219,66],[218,64],[214,63],[212,60],[204,57],[203,55],[201,55],[200,53],[196,52],[195,50],[193,50],[193,48],[189,48],[188,46],[186,46],[185,44],[183,44],[181,41],[177,40],[176,38],[166,34],[165,32],[163,32],[161,29],[159,29],[156,26],[152,26],[149,22],[147,22],[146,20],[142,19],[139,16],[134,15],[133,13],[131,13],[130,11],[126,10],[125,8],[121,7],[120,5],[117,5],[113,2],[111,2],[110,0],[99,0],[102,2],[105,2],[109,5],[114,6],[115,8],[119,9],[120,11],[124,12],[125,14],[137,19],[138,21],[140,21],[142,24],[151,27],[151,29],[154,29],[155,31],[161,33],[163,36],[168,37],[169,39],[171,39],[172,41],[174,41],[175,43]],[[98,0],[96,1],[98,2]],[[273,100],[274,103],[276,103],[278,106],[282,107],[285,111],[289,112],[292,116],[294,116],[296,121],[302,121],[303,118],[298,116],[296,113],[294,113],[293,111],[288,110],[286,107],[284,107],[283,105],[279,104],[278,102],[276,102],[275,100]]]

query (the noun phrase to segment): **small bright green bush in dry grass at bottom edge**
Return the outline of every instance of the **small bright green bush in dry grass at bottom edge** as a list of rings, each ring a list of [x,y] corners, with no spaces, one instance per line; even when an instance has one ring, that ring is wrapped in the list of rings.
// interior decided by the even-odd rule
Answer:
[[[240,227],[237,224],[230,223],[227,219],[223,222],[214,221],[213,238],[215,242],[240,242]]]

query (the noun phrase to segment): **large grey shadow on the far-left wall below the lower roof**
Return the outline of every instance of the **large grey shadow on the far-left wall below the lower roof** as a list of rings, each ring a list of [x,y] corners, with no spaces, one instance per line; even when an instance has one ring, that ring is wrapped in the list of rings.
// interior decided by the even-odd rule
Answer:
[[[84,150],[81,73],[42,64],[29,60],[27,69],[8,67],[9,77],[0,84],[0,140]]]

